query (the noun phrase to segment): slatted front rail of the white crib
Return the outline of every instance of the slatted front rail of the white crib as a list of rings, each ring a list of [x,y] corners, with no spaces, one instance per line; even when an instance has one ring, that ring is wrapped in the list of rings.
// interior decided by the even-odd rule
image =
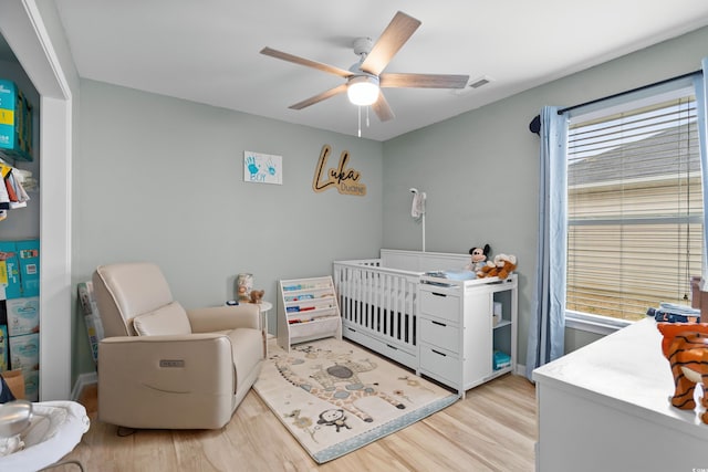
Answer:
[[[420,273],[381,268],[381,260],[334,262],[342,322],[378,340],[413,350]]]

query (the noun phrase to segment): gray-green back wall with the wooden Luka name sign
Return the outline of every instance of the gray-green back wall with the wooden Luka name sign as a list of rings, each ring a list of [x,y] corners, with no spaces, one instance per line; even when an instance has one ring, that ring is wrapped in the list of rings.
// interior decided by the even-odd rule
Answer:
[[[279,279],[332,273],[382,247],[382,144],[82,80],[74,160],[74,279],[100,264],[153,261],[185,307],[233,298],[252,273],[275,305]],[[314,192],[343,150],[366,196]],[[243,181],[243,151],[282,156],[283,185]],[[275,310],[269,328],[274,333]],[[76,344],[77,374],[94,366]]]

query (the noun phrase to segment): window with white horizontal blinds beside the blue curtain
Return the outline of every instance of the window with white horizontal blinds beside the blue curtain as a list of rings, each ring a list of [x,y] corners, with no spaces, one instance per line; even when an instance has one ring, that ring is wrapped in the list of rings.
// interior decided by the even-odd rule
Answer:
[[[693,87],[571,115],[566,311],[627,321],[688,303],[704,224]]]

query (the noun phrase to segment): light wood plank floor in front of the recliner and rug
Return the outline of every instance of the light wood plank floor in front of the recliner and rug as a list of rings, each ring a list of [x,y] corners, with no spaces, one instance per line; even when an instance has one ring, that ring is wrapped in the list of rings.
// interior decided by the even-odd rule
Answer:
[[[139,430],[118,437],[96,419],[96,392],[80,401],[91,429],[64,459],[93,471],[533,471],[535,391],[506,375],[442,411],[340,459],[317,465],[251,390],[216,431]],[[58,472],[75,472],[63,465]]]

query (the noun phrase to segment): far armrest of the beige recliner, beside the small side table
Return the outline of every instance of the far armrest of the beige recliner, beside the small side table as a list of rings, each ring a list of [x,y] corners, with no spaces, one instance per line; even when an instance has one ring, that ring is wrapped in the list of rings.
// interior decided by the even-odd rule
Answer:
[[[192,333],[214,333],[236,328],[261,329],[260,313],[260,306],[252,303],[187,310]]]

